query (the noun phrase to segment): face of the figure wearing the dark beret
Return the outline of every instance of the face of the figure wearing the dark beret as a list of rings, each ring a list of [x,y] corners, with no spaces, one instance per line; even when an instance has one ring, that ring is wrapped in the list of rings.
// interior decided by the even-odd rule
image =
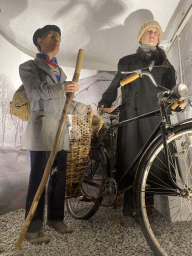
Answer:
[[[37,39],[41,52],[47,55],[56,55],[59,52],[61,38],[58,32],[50,31],[48,34]]]

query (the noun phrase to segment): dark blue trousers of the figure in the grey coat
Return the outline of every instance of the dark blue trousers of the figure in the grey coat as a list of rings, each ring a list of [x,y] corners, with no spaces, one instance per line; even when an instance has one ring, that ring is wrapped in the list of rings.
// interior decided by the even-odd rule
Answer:
[[[31,173],[26,199],[25,218],[31,208],[36,191],[41,183],[44,170],[49,159],[50,151],[30,151]],[[61,150],[57,153],[53,166],[57,165],[57,171],[50,175],[47,186],[47,220],[63,221],[64,202],[66,186],[67,151]],[[28,227],[27,232],[37,232],[42,228],[45,189],[39,200],[39,204]]]

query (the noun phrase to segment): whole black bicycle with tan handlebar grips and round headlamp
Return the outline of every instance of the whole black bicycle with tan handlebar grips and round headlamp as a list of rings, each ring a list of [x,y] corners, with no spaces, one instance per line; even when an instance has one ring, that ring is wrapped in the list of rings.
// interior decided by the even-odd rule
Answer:
[[[187,87],[178,85],[169,91],[157,85],[150,73],[141,70],[129,77],[129,81],[143,75],[147,75],[161,90],[158,93],[159,109],[121,123],[117,122],[116,116],[110,115],[110,125],[99,141],[90,148],[82,196],[67,200],[67,209],[75,218],[89,219],[101,205],[112,206],[118,195],[132,188],[135,217],[138,218],[143,234],[155,255],[192,255],[192,119],[171,125],[166,113],[167,103],[172,105],[176,99],[187,97]],[[157,114],[161,115],[161,122],[117,182],[114,178],[115,129]],[[106,140],[109,141],[108,152],[105,148]],[[121,181],[136,164],[138,168],[134,184],[121,189]],[[160,176],[154,171],[157,169],[161,170]],[[151,198],[155,198],[155,207],[149,213]],[[164,199],[163,207],[158,204],[161,198]],[[155,236],[151,219],[163,229],[161,236]],[[184,239],[189,242],[182,243]]]

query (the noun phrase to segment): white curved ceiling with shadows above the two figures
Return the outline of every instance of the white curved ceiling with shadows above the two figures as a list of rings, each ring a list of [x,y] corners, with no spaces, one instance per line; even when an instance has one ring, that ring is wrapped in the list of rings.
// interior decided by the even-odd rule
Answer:
[[[84,49],[84,69],[116,70],[118,59],[135,52],[137,34],[146,21],[157,20],[162,45],[171,40],[191,0],[1,0],[0,33],[34,57],[36,29],[61,28],[60,65],[74,67]]]

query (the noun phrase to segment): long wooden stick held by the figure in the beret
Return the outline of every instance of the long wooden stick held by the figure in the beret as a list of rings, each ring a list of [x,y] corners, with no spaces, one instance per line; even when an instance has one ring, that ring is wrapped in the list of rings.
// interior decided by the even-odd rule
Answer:
[[[83,61],[83,54],[84,54],[84,51],[82,49],[80,49],[79,52],[78,52],[78,56],[77,56],[75,73],[74,73],[74,76],[73,76],[73,81],[75,81],[75,82],[77,82],[78,79],[79,79],[81,66],[82,66],[82,61]],[[35,197],[33,199],[33,203],[31,205],[31,208],[30,208],[30,211],[27,215],[27,218],[25,219],[25,221],[23,223],[23,226],[22,226],[21,232],[20,232],[20,236],[19,236],[17,244],[16,244],[16,251],[20,251],[20,253],[18,255],[22,255],[21,251],[22,251],[22,244],[23,244],[23,241],[24,241],[24,238],[25,238],[25,233],[27,231],[27,228],[28,228],[33,216],[34,216],[34,213],[36,211],[36,208],[37,208],[37,205],[39,203],[40,197],[41,197],[41,195],[44,191],[44,188],[47,184],[49,175],[51,173],[51,168],[53,166],[53,162],[54,162],[55,157],[56,157],[57,152],[58,152],[59,143],[60,143],[62,132],[63,132],[64,126],[65,126],[65,123],[66,123],[66,120],[67,120],[67,114],[68,114],[73,96],[74,96],[74,92],[68,93],[68,95],[67,95],[66,103],[65,103],[65,106],[63,108],[63,113],[62,113],[62,116],[61,116],[61,120],[60,120],[60,123],[59,123],[57,134],[56,134],[56,137],[55,137],[53,149],[51,151],[51,154],[50,154],[50,157],[48,159],[47,165],[45,167],[45,171],[44,171],[41,183],[40,183],[39,188],[38,188],[38,190],[35,194]]]

